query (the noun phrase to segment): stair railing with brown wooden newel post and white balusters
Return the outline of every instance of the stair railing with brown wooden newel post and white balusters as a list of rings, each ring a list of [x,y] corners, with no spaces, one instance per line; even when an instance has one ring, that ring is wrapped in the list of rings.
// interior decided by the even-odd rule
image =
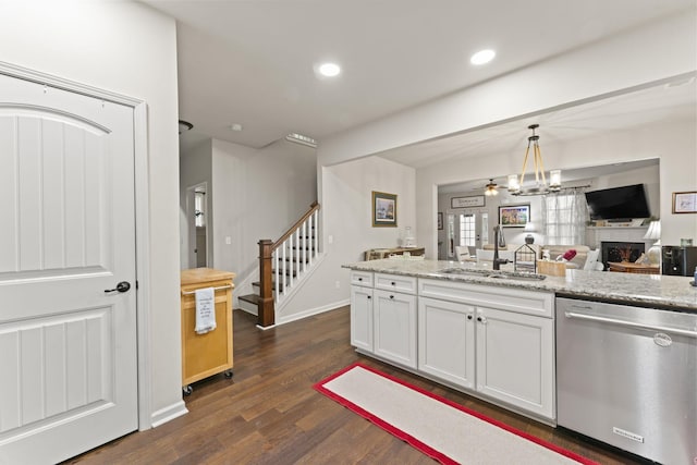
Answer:
[[[315,201],[278,241],[259,241],[258,326],[276,323],[276,302],[283,298],[317,256],[318,211],[319,204]]]

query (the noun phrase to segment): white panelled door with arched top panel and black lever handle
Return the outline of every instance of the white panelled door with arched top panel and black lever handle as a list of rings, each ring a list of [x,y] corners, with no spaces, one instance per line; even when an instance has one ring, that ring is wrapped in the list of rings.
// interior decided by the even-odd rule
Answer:
[[[0,75],[2,464],[137,428],[133,125],[130,107]]]

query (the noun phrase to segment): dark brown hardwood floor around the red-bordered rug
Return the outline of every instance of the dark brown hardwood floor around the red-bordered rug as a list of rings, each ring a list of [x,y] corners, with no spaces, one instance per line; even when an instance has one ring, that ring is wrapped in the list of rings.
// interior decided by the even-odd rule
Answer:
[[[234,311],[234,377],[213,376],[185,397],[189,413],[69,464],[429,464],[408,444],[311,386],[354,362],[433,391],[602,464],[635,463],[594,443],[356,354],[348,307],[261,331]],[[515,464],[515,457],[511,457]]]

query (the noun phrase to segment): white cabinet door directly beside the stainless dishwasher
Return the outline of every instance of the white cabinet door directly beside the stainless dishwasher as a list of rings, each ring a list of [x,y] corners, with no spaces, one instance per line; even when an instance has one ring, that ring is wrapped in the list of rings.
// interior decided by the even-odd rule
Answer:
[[[477,391],[555,417],[553,320],[477,307]]]

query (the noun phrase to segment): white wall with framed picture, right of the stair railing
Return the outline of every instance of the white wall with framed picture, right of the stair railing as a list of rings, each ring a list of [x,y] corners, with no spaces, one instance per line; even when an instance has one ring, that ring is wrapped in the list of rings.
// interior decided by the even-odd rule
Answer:
[[[342,265],[364,259],[368,248],[396,247],[404,228],[416,221],[413,168],[377,157],[322,168],[321,217],[323,261],[283,308],[285,322],[348,303],[348,270]],[[372,228],[372,191],[396,194],[398,228]],[[331,236],[331,244],[328,237]],[[416,237],[417,244],[420,238]]]

